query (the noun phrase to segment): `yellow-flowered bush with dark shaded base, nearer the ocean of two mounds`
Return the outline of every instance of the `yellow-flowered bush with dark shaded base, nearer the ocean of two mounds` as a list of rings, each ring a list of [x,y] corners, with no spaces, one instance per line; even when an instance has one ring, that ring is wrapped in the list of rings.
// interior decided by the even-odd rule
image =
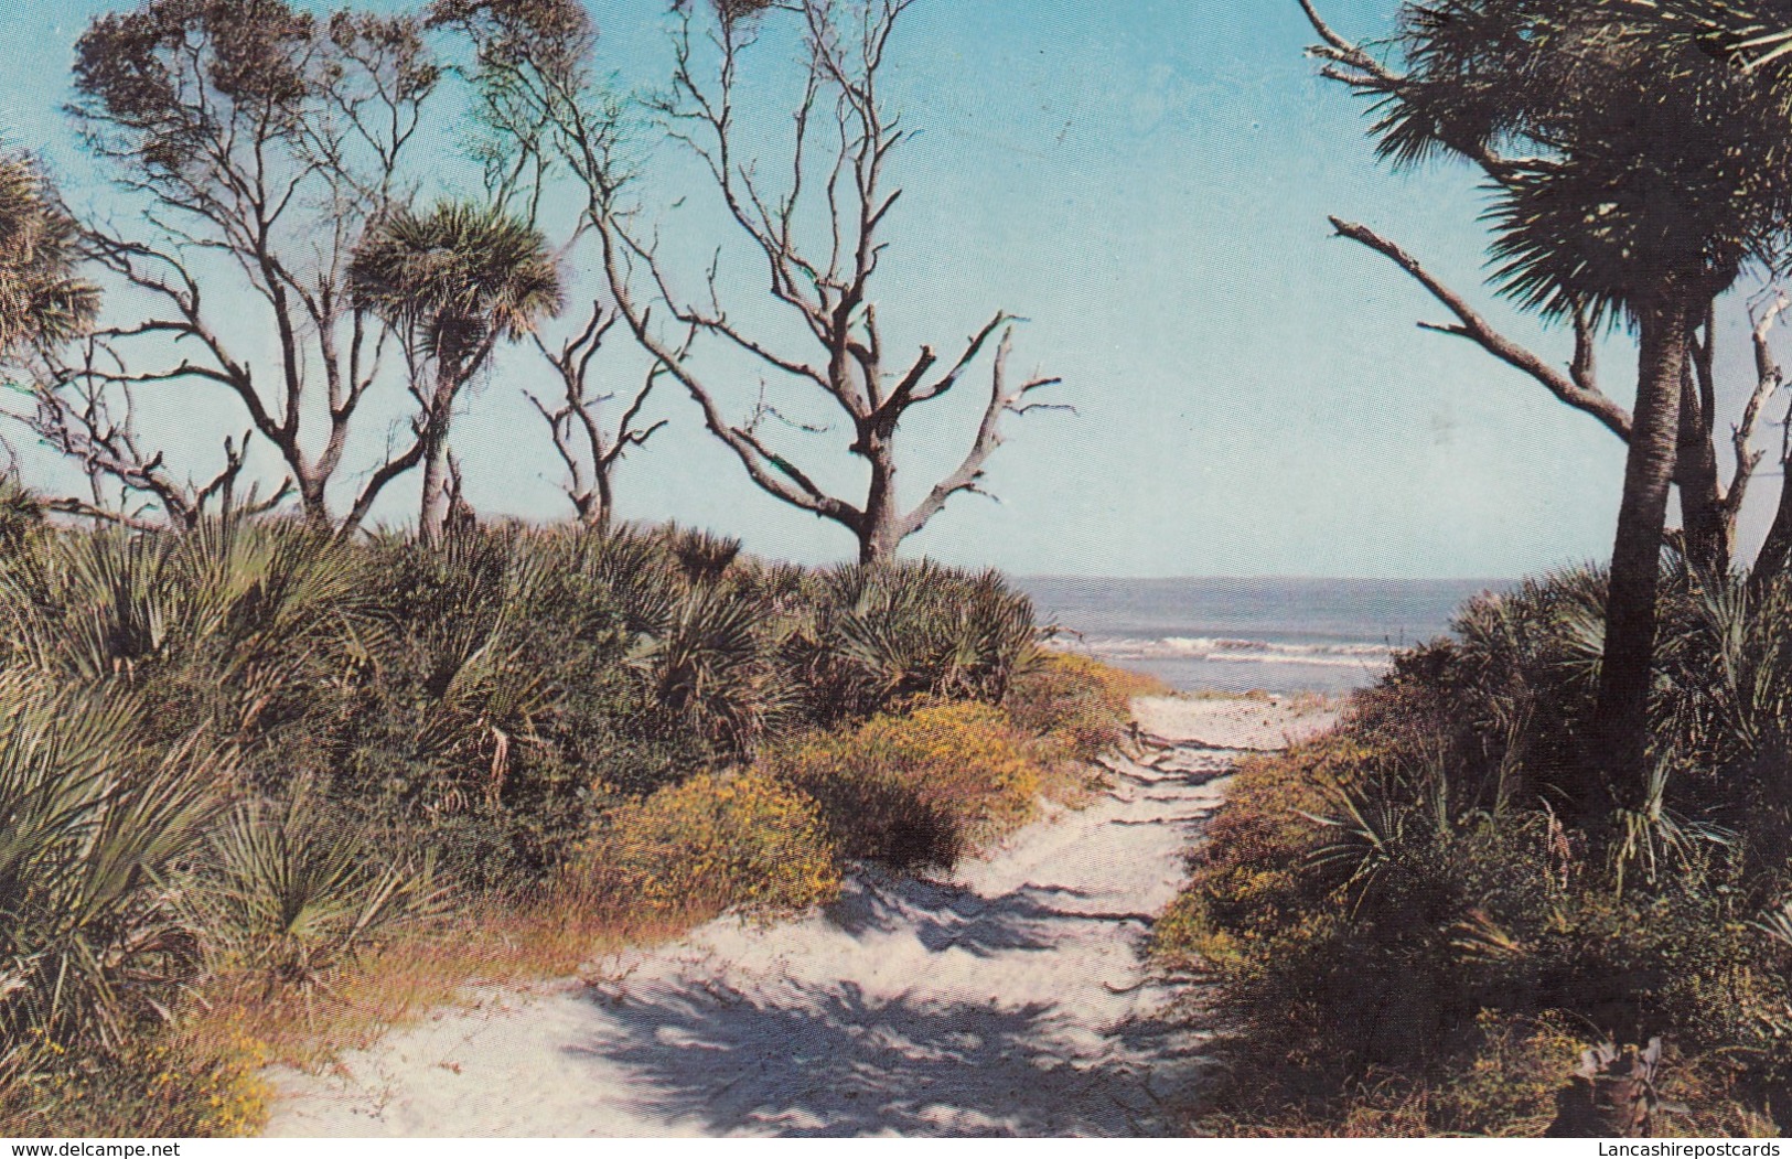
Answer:
[[[977,702],[873,717],[765,765],[815,799],[840,853],[905,869],[950,867],[1025,822],[1041,772],[1009,715]]]

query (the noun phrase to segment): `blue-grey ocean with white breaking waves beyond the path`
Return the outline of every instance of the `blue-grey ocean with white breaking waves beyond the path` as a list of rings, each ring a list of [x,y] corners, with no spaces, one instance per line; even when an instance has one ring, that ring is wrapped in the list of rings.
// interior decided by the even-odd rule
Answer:
[[[1021,577],[1064,647],[1183,691],[1373,684],[1398,648],[1441,636],[1473,595],[1511,580]]]

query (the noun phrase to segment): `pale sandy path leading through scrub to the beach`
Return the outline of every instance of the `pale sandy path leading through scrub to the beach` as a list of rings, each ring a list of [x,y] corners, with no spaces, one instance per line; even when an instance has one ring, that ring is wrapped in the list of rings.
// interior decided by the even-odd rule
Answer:
[[[1249,708],[1240,708],[1249,704]],[[1156,1017],[1150,917],[1233,752],[1324,724],[1238,700],[1145,700],[1201,747],[1116,761],[952,881],[866,874],[774,926],[722,919],[606,960],[597,985],[486,994],[274,1077],[271,1136],[1134,1136],[1201,1066]]]

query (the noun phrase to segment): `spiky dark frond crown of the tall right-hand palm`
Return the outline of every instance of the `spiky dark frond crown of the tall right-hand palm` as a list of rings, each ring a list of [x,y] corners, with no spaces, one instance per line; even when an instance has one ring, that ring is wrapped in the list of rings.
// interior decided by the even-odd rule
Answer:
[[[1380,150],[1489,168],[1495,279],[1520,305],[1633,312],[1663,279],[1713,297],[1781,247],[1785,100],[1656,5],[1430,0],[1407,5],[1396,43],[1409,72]]]

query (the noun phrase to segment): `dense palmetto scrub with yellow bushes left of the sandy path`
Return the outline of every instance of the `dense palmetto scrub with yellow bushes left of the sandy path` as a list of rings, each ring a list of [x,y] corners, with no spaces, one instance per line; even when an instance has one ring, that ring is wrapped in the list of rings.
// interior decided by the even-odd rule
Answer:
[[[851,858],[950,865],[1124,720],[993,573],[677,527],[88,532],[7,494],[7,1132],[253,1130],[267,1059],[823,901]]]

